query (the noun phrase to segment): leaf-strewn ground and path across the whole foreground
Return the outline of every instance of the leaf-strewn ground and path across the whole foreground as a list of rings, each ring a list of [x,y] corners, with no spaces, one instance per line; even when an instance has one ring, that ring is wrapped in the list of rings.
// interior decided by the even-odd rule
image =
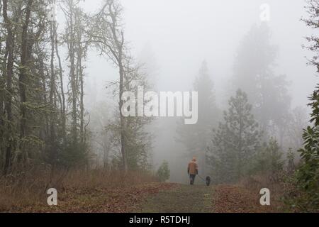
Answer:
[[[64,189],[58,205],[11,207],[11,212],[279,212],[280,204],[259,204],[259,192],[236,185],[149,183],[121,189]],[[5,211],[5,210],[0,210]],[[8,210],[7,210],[8,211]]]

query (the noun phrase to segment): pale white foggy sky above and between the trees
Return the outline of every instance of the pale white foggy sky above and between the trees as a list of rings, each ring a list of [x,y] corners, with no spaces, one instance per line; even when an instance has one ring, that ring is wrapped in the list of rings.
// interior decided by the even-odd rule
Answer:
[[[304,0],[122,0],[125,39],[133,55],[150,48],[157,65],[156,87],[188,90],[203,60],[208,62],[219,103],[225,101],[228,79],[233,74],[235,51],[254,23],[260,23],[259,7],[269,4],[272,43],[279,46],[277,74],[286,74],[291,84],[293,106],[305,105],[315,82],[314,67],[306,66],[304,37],[312,33],[300,21],[306,15]],[[94,11],[101,0],[85,1],[86,11]],[[116,79],[116,71],[96,52],[89,55],[87,79],[102,92],[106,80]],[[93,85],[92,85],[93,86]],[[103,93],[99,93],[99,96]]]

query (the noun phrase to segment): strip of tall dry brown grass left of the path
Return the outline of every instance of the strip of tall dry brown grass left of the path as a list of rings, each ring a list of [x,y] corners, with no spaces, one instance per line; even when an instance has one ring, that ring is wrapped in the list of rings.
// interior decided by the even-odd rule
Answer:
[[[33,169],[0,177],[0,212],[28,211],[32,207],[47,206],[46,192],[49,188],[57,189],[59,198],[63,198],[63,194],[124,190],[156,181],[155,177],[141,172],[60,170],[52,175],[50,170]]]

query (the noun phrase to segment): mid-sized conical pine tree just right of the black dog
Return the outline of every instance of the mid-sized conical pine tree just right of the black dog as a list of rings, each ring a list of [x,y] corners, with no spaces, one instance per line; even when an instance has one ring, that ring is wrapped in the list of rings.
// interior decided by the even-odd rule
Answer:
[[[213,131],[213,145],[208,149],[208,162],[217,182],[235,182],[247,175],[262,135],[245,92],[237,90],[228,103],[224,121]]]

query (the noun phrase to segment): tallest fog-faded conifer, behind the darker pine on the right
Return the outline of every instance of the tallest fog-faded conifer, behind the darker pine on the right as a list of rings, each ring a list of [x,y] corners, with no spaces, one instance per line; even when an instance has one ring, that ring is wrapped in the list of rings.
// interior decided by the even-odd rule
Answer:
[[[247,92],[265,135],[275,130],[283,138],[286,124],[282,122],[290,109],[289,82],[284,75],[274,73],[276,52],[267,23],[253,26],[237,50],[233,88]]]

